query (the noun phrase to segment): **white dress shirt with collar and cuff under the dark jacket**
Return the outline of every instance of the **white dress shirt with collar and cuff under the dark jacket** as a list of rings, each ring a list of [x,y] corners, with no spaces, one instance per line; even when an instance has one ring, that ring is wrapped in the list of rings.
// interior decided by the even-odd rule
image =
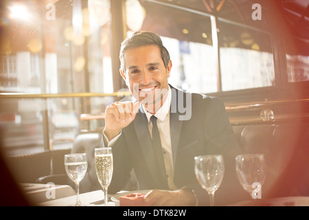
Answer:
[[[163,103],[162,107],[155,113],[157,117],[157,126],[159,129],[159,134],[161,138],[161,146],[163,152],[163,159],[165,163],[165,170],[166,175],[168,177],[168,187],[170,190],[176,190],[176,186],[174,185],[174,166],[173,166],[173,159],[172,159],[172,145],[171,145],[171,138],[170,138],[170,104],[172,101],[172,91],[168,89],[168,97],[166,98],[165,102]],[[150,122],[150,117],[152,113],[146,111],[144,104],[142,104],[142,108],[146,113],[146,117],[148,119],[148,129],[150,132],[150,137],[152,137],[152,123]],[[113,143],[118,139],[121,135],[117,135],[114,137],[113,140],[108,142],[106,135],[104,134],[104,140],[108,143],[107,146],[113,146]]]

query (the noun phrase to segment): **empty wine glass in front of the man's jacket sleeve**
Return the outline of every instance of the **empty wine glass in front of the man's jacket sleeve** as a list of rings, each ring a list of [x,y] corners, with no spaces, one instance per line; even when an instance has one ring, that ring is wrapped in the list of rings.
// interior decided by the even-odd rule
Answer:
[[[214,206],[214,193],[218,190],[225,174],[222,155],[194,157],[195,175],[199,184],[208,192],[210,206]]]

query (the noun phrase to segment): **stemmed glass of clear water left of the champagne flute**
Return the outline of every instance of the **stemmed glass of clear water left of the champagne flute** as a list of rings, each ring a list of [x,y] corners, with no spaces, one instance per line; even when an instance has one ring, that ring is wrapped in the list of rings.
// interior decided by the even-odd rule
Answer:
[[[80,202],[80,181],[87,172],[86,153],[72,153],[65,155],[65,171],[76,186],[76,204],[82,206]]]

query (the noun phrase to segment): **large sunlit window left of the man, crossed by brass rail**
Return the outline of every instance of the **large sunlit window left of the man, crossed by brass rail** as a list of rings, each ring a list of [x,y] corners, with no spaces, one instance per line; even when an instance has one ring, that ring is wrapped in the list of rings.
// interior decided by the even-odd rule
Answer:
[[[45,151],[49,144],[69,147],[82,129],[102,126],[81,115],[102,113],[113,101],[77,95],[113,93],[110,1],[2,5],[0,91],[21,95],[1,99],[5,150],[12,155]]]

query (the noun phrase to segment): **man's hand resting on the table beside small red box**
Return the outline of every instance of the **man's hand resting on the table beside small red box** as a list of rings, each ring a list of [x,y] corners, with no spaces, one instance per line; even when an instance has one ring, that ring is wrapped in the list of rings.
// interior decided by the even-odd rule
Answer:
[[[195,206],[196,197],[188,190],[161,191],[151,190],[145,196],[145,201],[156,199],[152,206]]]

